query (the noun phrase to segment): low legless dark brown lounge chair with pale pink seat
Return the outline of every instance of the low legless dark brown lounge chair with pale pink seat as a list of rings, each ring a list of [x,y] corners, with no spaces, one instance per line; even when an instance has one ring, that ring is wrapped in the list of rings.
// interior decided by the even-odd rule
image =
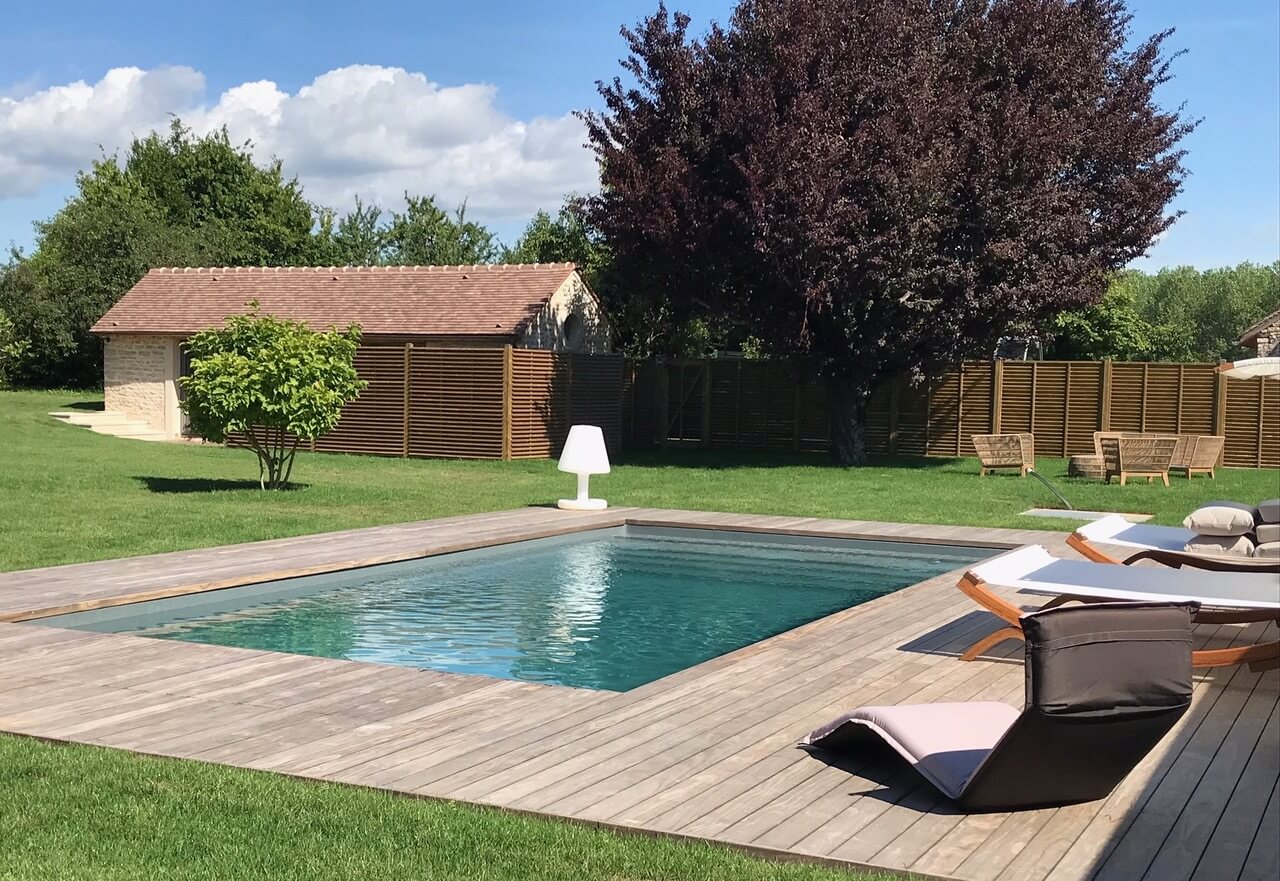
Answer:
[[[1194,603],[1033,612],[1027,708],[996,702],[861,707],[801,741],[847,750],[878,736],[970,811],[1106,798],[1187,712]]]

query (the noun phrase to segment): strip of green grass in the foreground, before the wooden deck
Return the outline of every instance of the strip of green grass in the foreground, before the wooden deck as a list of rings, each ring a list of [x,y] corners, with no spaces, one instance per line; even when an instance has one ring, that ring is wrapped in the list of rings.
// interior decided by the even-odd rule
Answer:
[[[5,881],[873,881],[726,848],[0,735]]]

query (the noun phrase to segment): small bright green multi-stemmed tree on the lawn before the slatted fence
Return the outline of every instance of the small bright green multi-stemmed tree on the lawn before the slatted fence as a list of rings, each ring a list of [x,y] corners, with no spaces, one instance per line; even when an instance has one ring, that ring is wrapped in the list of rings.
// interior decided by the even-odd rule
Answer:
[[[207,440],[242,434],[257,455],[262,489],[287,487],[298,443],[338,424],[366,385],[356,374],[360,328],[316,332],[261,315],[250,303],[227,327],[187,341],[191,374],[179,382],[191,428]]]

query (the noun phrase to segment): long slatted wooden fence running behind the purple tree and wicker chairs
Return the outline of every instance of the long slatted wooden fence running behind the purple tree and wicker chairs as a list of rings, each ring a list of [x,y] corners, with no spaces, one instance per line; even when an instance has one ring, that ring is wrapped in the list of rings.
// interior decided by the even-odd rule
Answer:
[[[824,451],[819,385],[786,364],[739,359],[627,369],[623,439]],[[973,456],[970,437],[1032,432],[1042,456],[1093,449],[1093,432],[1222,434],[1224,464],[1280,467],[1280,383],[1228,379],[1212,364],[977,361],[911,385],[878,388],[872,452]]]

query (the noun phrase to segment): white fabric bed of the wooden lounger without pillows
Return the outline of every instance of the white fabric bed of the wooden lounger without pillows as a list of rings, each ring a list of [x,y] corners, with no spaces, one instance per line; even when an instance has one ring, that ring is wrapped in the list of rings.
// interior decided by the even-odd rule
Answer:
[[[1207,572],[1059,560],[1039,544],[992,557],[969,574],[988,584],[1053,597],[1280,608],[1280,578],[1270,572]]]

